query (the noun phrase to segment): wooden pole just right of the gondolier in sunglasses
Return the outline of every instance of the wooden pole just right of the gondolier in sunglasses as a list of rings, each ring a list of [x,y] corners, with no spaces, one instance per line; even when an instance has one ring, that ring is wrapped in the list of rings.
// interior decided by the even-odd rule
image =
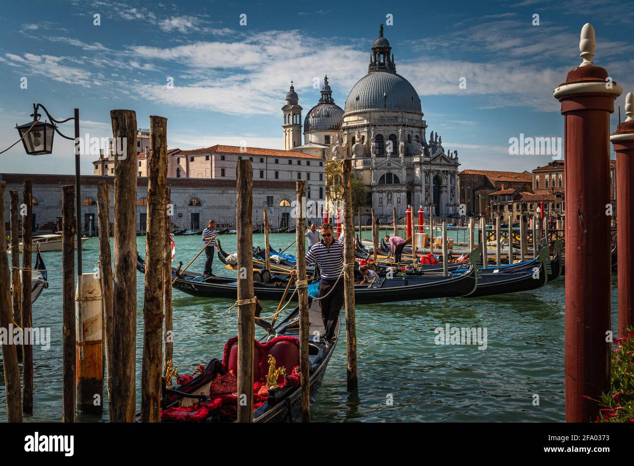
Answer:
[[[344,188],[344,306],[346,306],[346,354],[347,387],[356,391],[358,387],[356,320],[354,317],[354,215],[351,188],[352,160],[343,160],[341,166]]]

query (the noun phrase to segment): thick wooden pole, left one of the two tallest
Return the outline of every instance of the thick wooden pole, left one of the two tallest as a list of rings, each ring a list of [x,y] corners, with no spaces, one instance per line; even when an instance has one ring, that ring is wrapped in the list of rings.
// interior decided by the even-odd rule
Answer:
[[[136,412],[136,113],[111,110],[112,135],[126,141],[115,157],[112,422],[134,422]],[[126,138],[126,139],[117,139]]]

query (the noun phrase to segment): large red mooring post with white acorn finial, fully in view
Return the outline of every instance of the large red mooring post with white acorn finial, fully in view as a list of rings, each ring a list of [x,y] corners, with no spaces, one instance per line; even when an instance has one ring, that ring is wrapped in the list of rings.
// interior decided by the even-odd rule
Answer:
[[[564,115],[566,169],[566,421],[597,417],[609,388],[610,113],[621,87],[595,66],[595,34],[581,29],[583,63],[554,91]],[[543,212],[543,209],[541,210]]]

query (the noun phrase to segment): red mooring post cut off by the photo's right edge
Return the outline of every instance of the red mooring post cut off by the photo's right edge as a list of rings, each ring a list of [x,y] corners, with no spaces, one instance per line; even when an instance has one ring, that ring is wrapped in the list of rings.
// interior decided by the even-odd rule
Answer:
[[[634,325],[634,98],[625,98],[627,119],[610,140],[616,152],[616,250],[619,282],[619,337]]]

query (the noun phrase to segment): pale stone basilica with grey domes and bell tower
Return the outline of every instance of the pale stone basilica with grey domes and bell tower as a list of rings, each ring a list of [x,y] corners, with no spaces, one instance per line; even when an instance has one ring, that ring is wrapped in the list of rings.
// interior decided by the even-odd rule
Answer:
[[[458,152],[443,148],[443,139],[427,122],[417,91],[396,73],[392,48],[383,27],[372,46],[368,74],[354,84],[344,108],[335,104],[325,77],[321,98],[304,119],[291,86],[284,113],[285,148],[324,159],[353,160],[353,176],[372,192],[380,218],[399,217],[408,205],[422,205],[426,216],[458,214]]]

